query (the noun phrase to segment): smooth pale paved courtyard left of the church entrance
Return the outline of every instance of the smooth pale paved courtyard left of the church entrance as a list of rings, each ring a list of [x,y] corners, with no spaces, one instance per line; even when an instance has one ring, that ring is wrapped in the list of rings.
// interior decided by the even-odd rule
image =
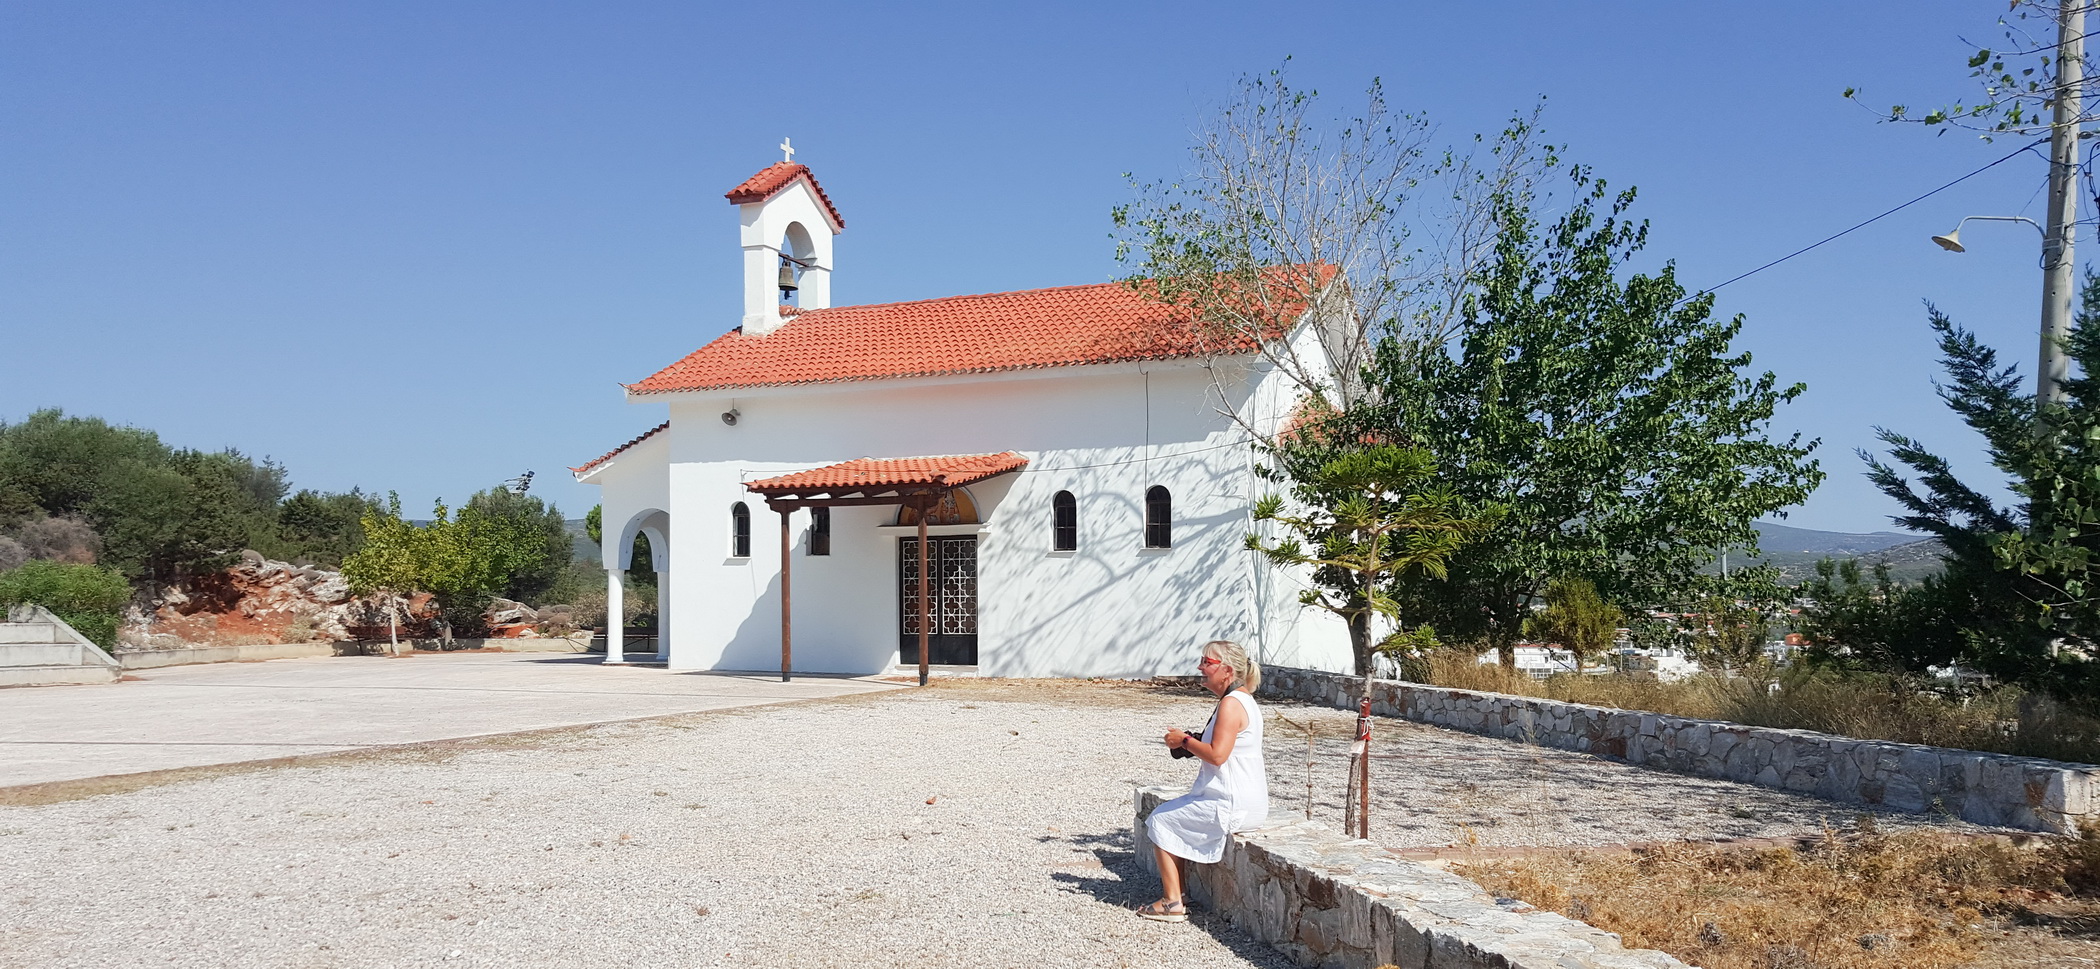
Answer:
[[[0,689],[0,788],[892,689],[571,654],[328,656]]]

